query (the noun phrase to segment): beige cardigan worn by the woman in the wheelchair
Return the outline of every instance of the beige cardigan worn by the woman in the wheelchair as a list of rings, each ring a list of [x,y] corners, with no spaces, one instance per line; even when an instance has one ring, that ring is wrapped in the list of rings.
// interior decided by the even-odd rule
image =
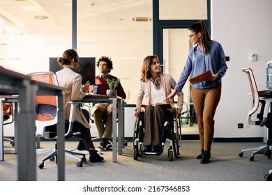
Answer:
[[[163,87],[163,90],[165,91],[165,98],[171,93],[171,90],[174,89],[176,86],[176,81],[172,78],[171,75],[160,75],[160,86]],[[183,92],[180,91],[176,93],[178,95],[178,104],[177,109],[182,109],[183,107]],[[142,107],[142,101],[146,100],[144,104],[151,104],[151,81],[148,80],[146,82],[140,81],[139,86],[139,93],[137,96],[137,102],[136,102],[136,109]],[[167,103],[171,104],[172,107],[174,107],[173,102],[169,102],[167,100]]]

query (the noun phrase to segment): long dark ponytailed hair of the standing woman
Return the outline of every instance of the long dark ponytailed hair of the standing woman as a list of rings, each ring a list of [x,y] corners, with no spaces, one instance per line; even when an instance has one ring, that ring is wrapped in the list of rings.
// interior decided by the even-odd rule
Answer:
[[[204,22],[202,20],[199,20],[199,22],[190,25],[188,30],[193,31],[195,33],[201,33],[202,35],[202,45],[204,46],[204,54],[211,52],[211,47],[209,45],[209,41],[211,41],[211,38],[209,36],[208,29],[206,28]]]

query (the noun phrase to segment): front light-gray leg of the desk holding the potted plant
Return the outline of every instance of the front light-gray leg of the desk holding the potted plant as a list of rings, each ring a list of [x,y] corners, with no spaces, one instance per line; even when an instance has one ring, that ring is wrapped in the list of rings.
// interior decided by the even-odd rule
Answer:
[[[117,99],[112,98],[112,161],[117,162],[117,124],[116,124],[116,119],[117,119]]]

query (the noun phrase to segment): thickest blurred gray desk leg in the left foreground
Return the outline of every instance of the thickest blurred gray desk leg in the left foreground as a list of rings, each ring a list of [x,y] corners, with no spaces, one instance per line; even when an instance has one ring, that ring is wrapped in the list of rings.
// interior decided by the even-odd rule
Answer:
[[[36,180],[35,94],[37,86],[25,80],[19,86],[18,180]]]

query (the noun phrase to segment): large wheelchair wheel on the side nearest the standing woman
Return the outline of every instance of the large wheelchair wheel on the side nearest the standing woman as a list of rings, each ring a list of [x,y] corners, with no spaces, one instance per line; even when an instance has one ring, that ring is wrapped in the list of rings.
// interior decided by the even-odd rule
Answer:
[[[175,157],[179,157],[181,153],[179,149],[181,147],[181,118],[176,116],[174,121],[174,132],[173,132],[173,150]]]

